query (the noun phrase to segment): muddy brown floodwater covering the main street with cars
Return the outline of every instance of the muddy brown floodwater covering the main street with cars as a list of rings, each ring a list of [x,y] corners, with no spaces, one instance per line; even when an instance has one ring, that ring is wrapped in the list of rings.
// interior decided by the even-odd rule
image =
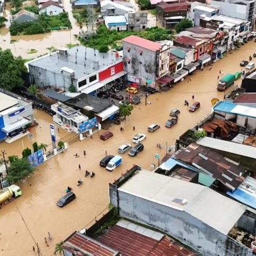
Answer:
[[[75,142],[64,154],[59,154],[39,166],[35,174],[21,184],[23,195],[0,210],[0,255],[34,255],[32,246],[35,246],[35,243],[38,243],[42,255],[53,255],[56,243],[65,239],[73,231],[91,225],[99,214],[106,211],[108,183],[130,169],[132,164],[152,170],[150,164],[157,164],[154,158],[155,153],[160,157],[165,154],[165,149],[158,149],[156,143],[162,143],[163,146],[165,143],[168,146],[173,145],[181,133],[210,114],[211,99],[223,99],[223,93],[216,90],[219,70],[224,70],[223,75],[241,70],[239,62],[252,55],[256,50],[255,46],[256,43],[250,42],[241,50],[215,62],[211,71],[209,69],[196,71],[191,76],[191,82],[185,79],[168,92],[150,95],[148,101],[151,105],[145,106],[142,99],[142,103],[134,108],[132,115],[122,124],[124,132],[119,130],[120,126],[113,125],[110,127],[114,133],[113,138],[100,141],[98,134],[94,134],[93,139]],[[193,102],[191,99],[193,94],[195,100],[201,102],[201,108],[195,113],[189,113],[183,102],[185,99],[189,103]],[[164,123],[169,118],[172,108],[181,110],[179,122],[171,129],[166,129]],[[37,119],[41,130],[39,127],[35,128],[35,137],[39,142],[49,143],[51,117],[37,112]],[[151,123],[158,123],[161,128],[149,134],[147,126]],[[132,131],[133,125],[135,132]],[[115,155],[118,146],[125,142],[131,143],[134,133],[137,132],[147,135],[147,139],[143,141],[145,150],[134,158],[129,157],[127,153],[123,155],[122,165],[113,172],[107,172],[99,166],[100,159],[105,156],[105,150],[108,154]],[[63,132],[63,135],[65,134]],[[25,140],[23,143],[27,146],[30,141]],[[8,154],[10,152],[20,154],[21,141],[14,142],[11,146],[1,143],[0,150],[3,149]],[[83,150],[86,150],[86,157],[83,156]],[[74,157],[76,153],[80,155],[78,158]],[[81,164],[81,171],[78,169],[78,164]],[[95,177],[84,178],[85,170],[94,171]],[[76,186],[78,178],[84,180],[80,187]],[[60,209],[56,206],[56,202],[65,194],[67,186],[73,187],[77,199]],[[44,242],[47,232],[53,236],[49,247]]]

